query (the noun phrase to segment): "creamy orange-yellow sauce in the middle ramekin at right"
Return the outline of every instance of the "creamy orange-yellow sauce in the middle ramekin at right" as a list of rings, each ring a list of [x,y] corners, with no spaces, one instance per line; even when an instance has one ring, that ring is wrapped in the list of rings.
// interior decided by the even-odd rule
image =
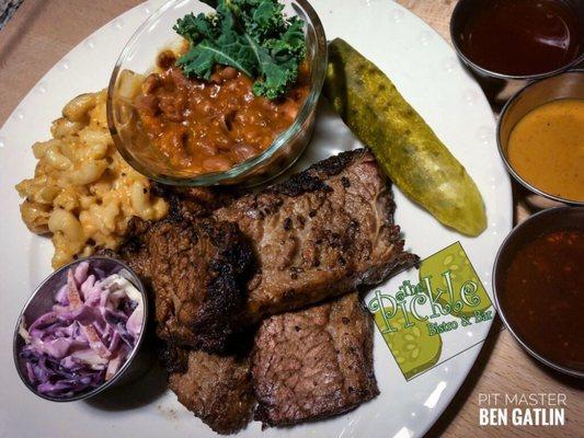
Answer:
[[[511,132],[507,157],[534,187],[584,200],[584,100],[558,100],[528,113]]]

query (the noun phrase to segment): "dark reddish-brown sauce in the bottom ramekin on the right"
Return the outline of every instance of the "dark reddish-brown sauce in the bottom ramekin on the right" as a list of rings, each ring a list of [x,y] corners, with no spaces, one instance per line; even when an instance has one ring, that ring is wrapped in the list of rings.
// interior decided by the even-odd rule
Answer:
[[[584,231],[551,232],[522,247],[501,296],[509,325],[527,345],[584,370]]]

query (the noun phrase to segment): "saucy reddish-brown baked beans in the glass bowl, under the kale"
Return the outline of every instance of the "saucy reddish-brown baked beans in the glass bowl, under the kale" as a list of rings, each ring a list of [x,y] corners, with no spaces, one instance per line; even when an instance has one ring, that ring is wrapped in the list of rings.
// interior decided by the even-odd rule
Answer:
[[[253,80],[217,66],[208,81],[186,78],[175,55],[159,55],[159,72],[141,85],[136,107],[151,142],[179,170],[221,172],[257,155],[295,120],[309,92],[309,71],[286,95],[270,101],[253,94]]]

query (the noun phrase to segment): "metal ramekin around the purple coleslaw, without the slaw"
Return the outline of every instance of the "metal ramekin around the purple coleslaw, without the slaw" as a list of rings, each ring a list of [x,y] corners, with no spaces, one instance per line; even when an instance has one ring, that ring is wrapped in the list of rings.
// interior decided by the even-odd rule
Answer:
[[[81,262],[85,262],[85,261],[91,262],[93,265],[98,264],[100,268],[104,269],[107,273],[116,273],[122,269],[125,269],[130,274],[130,281],[140,291],[142,303],[144,303],[144,319],[142,319],[140,336],[138,341],[136,342],[134,350],[130,351],[128,358],[126,359],[124,365],[117,370],[114,377],[103,382],[99,387],[94,388],[93,390],[88,391],[88,392],[82,392],[80,394],[77,394],[68,399],[60,399],[60,397],[54,397],[54,396],[46,395],[46,394],[41,394],[36,391],[36,389],[28,381],[27,376],[26,376],[25,361],[19,357],[20,356],[19,353],[24,346],[24,339],[19,334],[21,319],[24,316],[25,321],[30,324],[31,321],[34,321],[36,318],[47,312],[54,304],[53,299],[54,299],[55,291],[60,286],[67,283],[67,272],[70,268],[75,268]],[[21,314],[19,315],[19,319],[16,320],[16,326],[14,328],[14,337],[12,342],[12,354],[14,356],[14,365],[16,366],[16,371],[19,372],[19,376],[21,380],[23,381],[23,383],[26,385],[26,388],[28,388],[34,394],[45,400],[49,400],[51,402],[73,402],[77,400],[90,399],[107,389],[134,381],[138,377],[142,376],[149,369],[149,364],[150,364],[149,356],[150,355],[148,354],[148,351],[145,351],[145,348],[141,348],[142,345],[145,344],[145,337],[147,336],[146,335],[147,322],[148,322],[148,297],[146,293],[146,289],[144,288],[144,285],[138,278],[138,276],[131,270],[129,266],[127,266],[125,263],[122,263],[117,260],[102,257],[102,256],[93,256],[93,257],[85,257],[85,258],[77,260],[75,262],[69,263],[68,265],[62,266],[61,268],[57,269],[53,274],[50,274],[43,283],[41,283],[41,285],[38,285],[38,287],[35,289],[31,298],[28,298],[28,300],[26,301],[26,304],[24,304],[24,308],[22,309]]]

